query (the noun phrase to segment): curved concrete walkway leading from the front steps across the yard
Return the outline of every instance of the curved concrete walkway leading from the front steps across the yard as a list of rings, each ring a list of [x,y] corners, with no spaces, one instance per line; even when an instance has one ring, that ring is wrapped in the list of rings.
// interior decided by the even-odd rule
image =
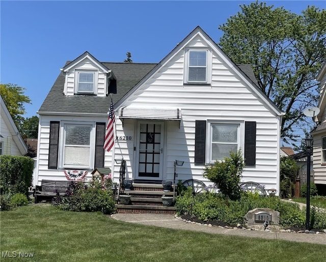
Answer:
[[[306,234],[296,232],[273,232],[258,231],[249,229],[231,229],[218,226],[208,226],[196,223],[189,223],[173,215],[160,214],[114,214],[112,218],[129,223],[137,223],[143,225],[160,226],[167,228],[183,229],[206,232],[209,234],[223,234],[228,236],[240,236],[250,238],[278,239],[295,242],[308,242],[314,244],[326,245],[326,234]]]

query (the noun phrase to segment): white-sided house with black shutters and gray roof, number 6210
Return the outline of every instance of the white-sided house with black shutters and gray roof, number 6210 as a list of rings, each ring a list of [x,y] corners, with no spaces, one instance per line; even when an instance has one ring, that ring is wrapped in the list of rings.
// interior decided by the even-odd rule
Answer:
[[[99,62],[89,52],[67,62],[38,111],[37,173],[42,179],[91,178],[108,167],[119,181],[197,179],[207,163],[242,150],[243,182],[279,190],[283,113],[198,26],[160,63]],[[103,142],[112,94],[116,141]]]

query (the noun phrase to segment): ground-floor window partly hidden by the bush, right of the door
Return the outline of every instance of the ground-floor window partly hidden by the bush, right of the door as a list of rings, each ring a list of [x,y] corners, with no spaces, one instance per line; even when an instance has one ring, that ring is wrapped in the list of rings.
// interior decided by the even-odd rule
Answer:
[[[209,162],[223,160],[240,148],[239,123],[211,123],[209,133]]]

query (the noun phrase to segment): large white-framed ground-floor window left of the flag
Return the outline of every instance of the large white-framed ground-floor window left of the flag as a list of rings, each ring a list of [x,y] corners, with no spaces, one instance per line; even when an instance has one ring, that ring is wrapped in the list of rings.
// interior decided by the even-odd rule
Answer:
[[[62,168],[91,168],[94,162],[94,125],[64,124]]]

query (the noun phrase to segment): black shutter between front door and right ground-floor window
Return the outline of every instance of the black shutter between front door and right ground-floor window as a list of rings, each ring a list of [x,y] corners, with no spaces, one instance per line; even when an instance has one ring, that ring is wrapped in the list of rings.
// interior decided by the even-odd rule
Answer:
[[[195,127],[195,165],[206,163],[206,121],[196,120]]]

